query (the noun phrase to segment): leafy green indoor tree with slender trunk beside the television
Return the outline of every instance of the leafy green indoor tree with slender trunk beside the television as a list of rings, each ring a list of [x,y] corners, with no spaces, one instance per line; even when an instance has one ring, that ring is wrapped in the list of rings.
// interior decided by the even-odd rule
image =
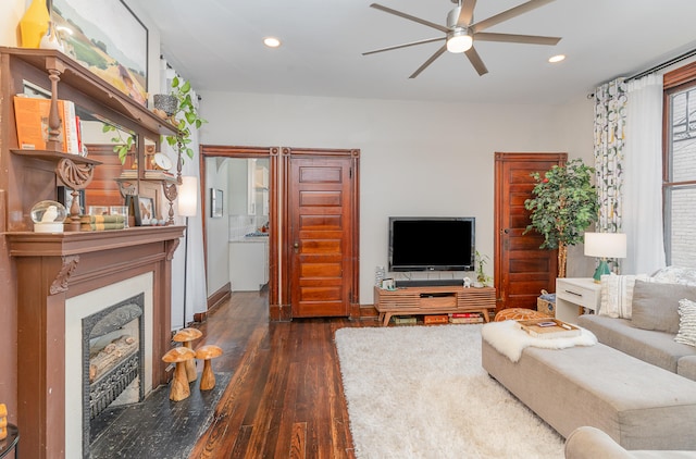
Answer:
[[[535,230],[544,236],[540,249],[558,249],[558,276],[566,277],[568,246],[583,240],[584,231],[597,221],[599,203],[592,184],[595,169],[581,159],[555,165],[545,173],[534,172],[533,198],[524,201],[531,223],[524,234]]]

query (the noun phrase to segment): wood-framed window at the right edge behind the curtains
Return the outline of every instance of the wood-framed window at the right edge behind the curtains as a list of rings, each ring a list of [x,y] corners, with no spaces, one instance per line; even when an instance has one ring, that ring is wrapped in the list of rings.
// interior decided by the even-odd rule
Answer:
[[[667,264],[696,268],[696,63],[664,75]]]

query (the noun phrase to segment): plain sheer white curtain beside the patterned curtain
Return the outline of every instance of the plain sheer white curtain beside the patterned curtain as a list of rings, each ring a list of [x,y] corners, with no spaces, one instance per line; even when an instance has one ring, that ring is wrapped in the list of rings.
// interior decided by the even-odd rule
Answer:
[[[626,273],[651,274],[666,263],[662,234],[662,75],[627,85],[623,231]]]

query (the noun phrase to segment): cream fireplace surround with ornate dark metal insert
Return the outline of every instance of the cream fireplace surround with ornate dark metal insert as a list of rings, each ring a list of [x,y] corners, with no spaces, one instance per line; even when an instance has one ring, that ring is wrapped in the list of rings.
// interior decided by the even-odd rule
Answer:
[[[66,458],[89,458],[89,445],[94,441],[91,420],[112,401],[135,404],[153,389],[150,374],[156,363],[152,362],[151,328],[150,273],[87,291],[65,302]],[[90,382],[90,353],[124,335],[137,335],[135,352],[127,351],[132,346],[125,346],[123,358],[97,371],[97,377]],[[134,361],[137,361],[135,369]],[[133,377],[136,374],[137,377]]]

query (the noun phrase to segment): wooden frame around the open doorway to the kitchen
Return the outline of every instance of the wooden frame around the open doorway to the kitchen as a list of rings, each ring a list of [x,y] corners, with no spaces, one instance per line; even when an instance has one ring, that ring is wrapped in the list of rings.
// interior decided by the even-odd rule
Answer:
[[[238,147],[238,146],[221,146],[221,145],[201,145],[199,165],[200,165],[200,202],[203,215],[208,215],[206,209],[206,159],[207,158],[269,158],[269,225],[271,226],[271,236],[269,237],[269,308],[273,310],[278,308],[278,147]],[[208,231],[207,219],[203,218],[203,255],[206,266],[208,266]],[[216,302],[216,301],[215,301]]]

